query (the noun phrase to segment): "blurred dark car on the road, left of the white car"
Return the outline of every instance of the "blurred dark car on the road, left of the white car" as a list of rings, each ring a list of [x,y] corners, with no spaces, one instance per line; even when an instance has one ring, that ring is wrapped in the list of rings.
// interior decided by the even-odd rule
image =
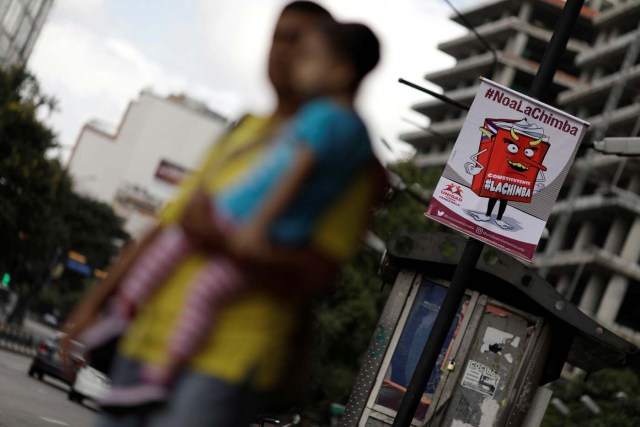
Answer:
[[[74,342],[74,349],[69,355],[71,366],[69,369],[64,369],[60,354],[60,343],[63,337],[64,334],[57,333],[40,343],[38,352],[29,367],[29,376],[36,376],[42,380],[45,375],[48,375],[69,385],[74,383],[76,372],[85,365],[81,344]]]

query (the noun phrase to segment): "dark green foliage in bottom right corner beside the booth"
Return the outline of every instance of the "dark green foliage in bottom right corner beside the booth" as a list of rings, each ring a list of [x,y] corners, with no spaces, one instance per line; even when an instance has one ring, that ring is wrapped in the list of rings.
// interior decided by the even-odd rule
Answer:
[[[543,427],[635,427],[640,425],[640,378],[631,369],[604,369],[586,377],[560,379],[553,383],[553,394],[570,410],[562,415],[549,406]],[[600,407],[591,413],[580,397],[588,395]]]

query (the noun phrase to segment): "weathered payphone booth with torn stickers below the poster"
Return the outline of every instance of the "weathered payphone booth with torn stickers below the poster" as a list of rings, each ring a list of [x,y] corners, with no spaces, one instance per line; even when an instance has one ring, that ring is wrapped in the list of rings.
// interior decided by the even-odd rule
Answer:
[[[466,239],[397,234],[382,275],[393,283],[341,425],[390,426]],[[636,352],[540,276],[485,248],[412,425],[537,426],[551,398],[540,387],[565,362],[592,372]]]

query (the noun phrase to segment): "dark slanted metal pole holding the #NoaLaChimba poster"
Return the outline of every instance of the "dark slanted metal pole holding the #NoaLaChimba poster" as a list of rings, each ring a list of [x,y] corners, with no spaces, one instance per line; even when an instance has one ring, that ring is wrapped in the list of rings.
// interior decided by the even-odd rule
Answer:
[[[553,76],[556,72],[560,56],[564,52],[574,23],[580,15],[580,10],[584,0],[567,0],[558,18],[553,36],[549,41],[549,46],[545,52],[540,68],[533,80],[529,95],[540,98],[549,88]],[[393,421],[393,427],[410,427],[413,416],[416,412],[422,394],[429,381],[431,372],[436,367],[440,350],[451,329],[453,320],[467,288],[467,282],[471,278],[475,266],[480,258],[484,244],[476,239],[470,238],[460,258],[460,263],[456,268],[447,295],[440,307],[438,316],[433,324],[429,338],[424,346],[416,369],[413,372],[407,391],[402,399],[398,414]]]

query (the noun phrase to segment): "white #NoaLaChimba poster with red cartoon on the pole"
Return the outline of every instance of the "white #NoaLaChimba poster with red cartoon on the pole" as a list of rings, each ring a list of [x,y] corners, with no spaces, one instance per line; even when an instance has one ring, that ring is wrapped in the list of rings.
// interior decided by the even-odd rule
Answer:
[[[588,126],[482,79],[425,215],[531,261]]]

